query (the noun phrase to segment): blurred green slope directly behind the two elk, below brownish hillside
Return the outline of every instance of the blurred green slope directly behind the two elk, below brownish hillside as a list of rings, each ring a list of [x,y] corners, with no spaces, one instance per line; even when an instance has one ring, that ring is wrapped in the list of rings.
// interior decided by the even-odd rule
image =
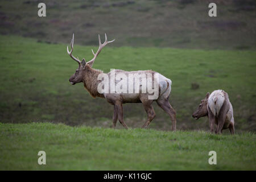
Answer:
[[[237,131],[255,131],[255,51],[116,48],[114,43],[102,50],[93,67],[104,72],[111,68],[152,69],[171,78],[170,102],[177,112],[177,129],[208,130],[207,118],[196,121],[191,115],[207,92],[224,89],[233,104]],[[67,44],[0,36],[0,45],[1,122],[112,125],[111,105],[102,98],[92,98],[82,84],[68,82],[78,65],[68,56]],[[75,44],[73,55],[89,60],[91,48],[96,49]],[[199,84],[198,89],[192,89],[194,82]],[[153,106],[156,118],[150,127],[170,130],[168,115],[155,103]],[[124,118],[129,127],[141,127],[146,112],[141,104],[125,104]],[[118,127],[122,128],[119,123]]]

